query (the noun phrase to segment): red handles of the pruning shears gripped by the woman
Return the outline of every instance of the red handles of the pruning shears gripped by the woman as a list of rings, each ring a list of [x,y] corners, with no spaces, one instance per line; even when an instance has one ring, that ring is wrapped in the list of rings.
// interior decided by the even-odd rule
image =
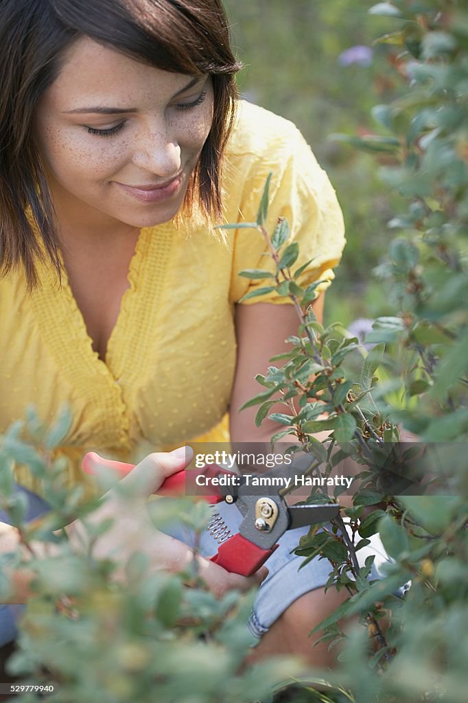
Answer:
[[[102,463],[105,467],[119,472],[122,477],[128,475],[135,467],[134,464],[126,464],[122,461],[112,461],[101,458],[96,452],[87,453],[82,462],[82,468],[87,474],[94,474],[94,466]],[[196,470],[194,470],[196,472]],[[230,474],[229,471],[221,469],[221,467],[204,467],[199,471],[204,475],[218,475],[219,473]],[[186,470],[172,474],[164,483],[157,489],[158,496],[181,496],[186,491]],[[219,503],[223,500],[221,494],[216,496],[198,496],[203,501],[208,503]],[[249,541],[241,534],[235,534],[226,542],[223,542],[219,547],[218,553],[211,557],[212,562],[223,567],[226,571],[241,576],[252,576],[258,569],[264,565],[268,557],[270,557],[278,545],[272,549],[261,549],[256,544]]]

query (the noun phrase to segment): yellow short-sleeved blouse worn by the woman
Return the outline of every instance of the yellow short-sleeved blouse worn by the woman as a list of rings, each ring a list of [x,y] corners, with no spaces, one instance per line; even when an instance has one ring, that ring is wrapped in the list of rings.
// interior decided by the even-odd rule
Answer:
[[[327,175],[291,122],[240,101],[223,175],[226,222],[255,219],[269,172],[267,230],[286,217],[300,243],[297,266],[313,258],[299,282],[331,280],[344,226]],[[257,231],[227,230],[223,240],[196,212],[180,219],[141,230],[105,362],[67,280],[59,288],[44,267],[28,294],[22,271],[0,279],[0,434],[28,404],[45,423],[68,404],[73,422],[60,453],[72,483],[89,480],[80,468],[86,451],[136,460],[194,438],[228,441],[234,304],[266,285],[238,271],[270,259]],[[245,304],[259,301],[287,302],[273,294]],[[17,477],[39,489],[24,468]]]

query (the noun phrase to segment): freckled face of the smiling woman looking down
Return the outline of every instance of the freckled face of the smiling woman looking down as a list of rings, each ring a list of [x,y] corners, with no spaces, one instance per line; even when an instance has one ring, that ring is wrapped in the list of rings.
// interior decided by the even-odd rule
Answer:
[[[59,222],[166,222],[212,126],[213,89],[79,39],[41,98],[35,134]]]

